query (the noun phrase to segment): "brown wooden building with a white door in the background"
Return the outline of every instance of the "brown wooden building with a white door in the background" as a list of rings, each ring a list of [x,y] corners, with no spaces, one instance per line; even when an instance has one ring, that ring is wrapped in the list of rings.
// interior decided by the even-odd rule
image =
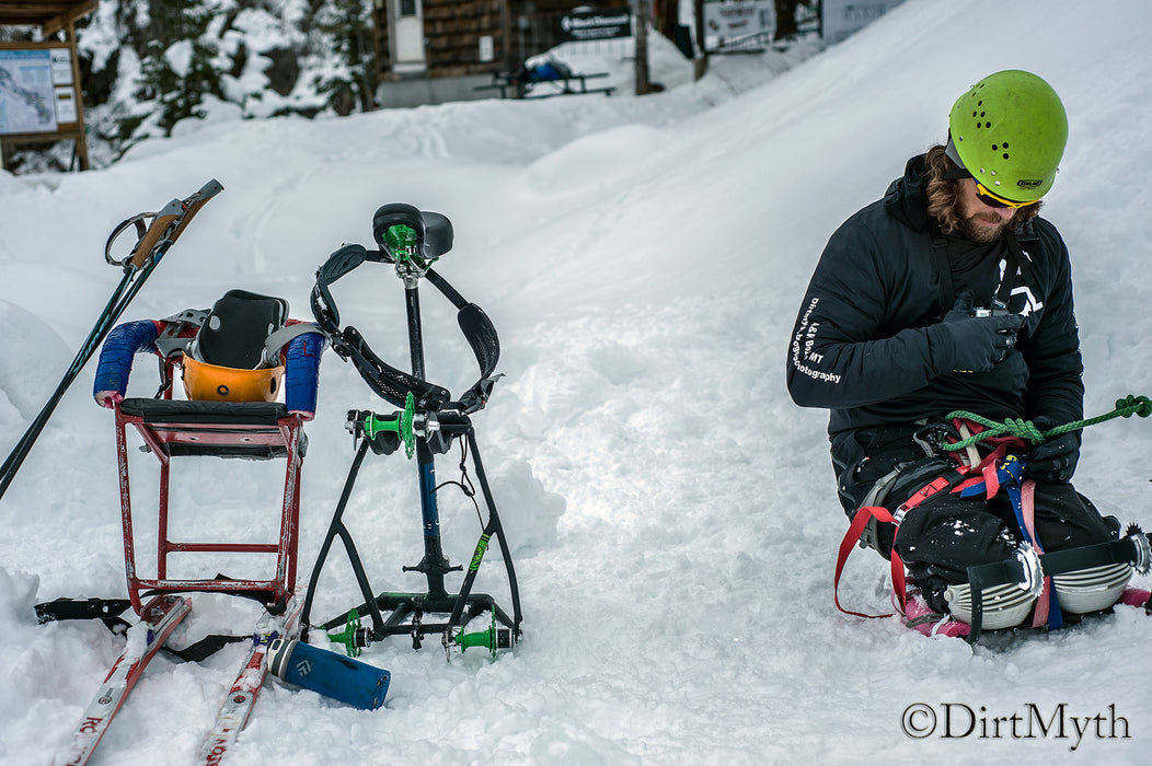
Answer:
[[[628,8],[628,0],[374,0],[379,105],[475,98],[477,83],[515,71],[558,44],[559,17],[577,7]]]

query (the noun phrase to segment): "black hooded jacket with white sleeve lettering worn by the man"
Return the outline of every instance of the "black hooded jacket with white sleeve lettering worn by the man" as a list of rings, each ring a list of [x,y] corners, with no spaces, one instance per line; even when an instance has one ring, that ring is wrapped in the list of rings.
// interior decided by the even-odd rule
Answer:
[[[995,296],[1008,247],[940,235],[927,213],[923,173],[924,157],[910,159],[884,199],[828,240],[789,343],[793,401],[832,410],[833,442],[953,410],[994,419],[1081,418],[1083,362],[1068,250],[1044,219],[1016,232],[1029,275],[1026,285],[1020,271],[1010,276],[1008,308],[1026,317],[1016,347],[991,372],[952,372],[950,335],[939,326],[952,306],[943,305],[949,293],[933,242],[947,247],[953,293],[972,290],[977,306]]]

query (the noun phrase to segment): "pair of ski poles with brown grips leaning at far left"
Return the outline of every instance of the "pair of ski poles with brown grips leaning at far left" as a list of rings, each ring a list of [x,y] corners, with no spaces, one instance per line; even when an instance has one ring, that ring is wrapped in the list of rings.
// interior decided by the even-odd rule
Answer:
[[[60,403],[60,400],[76,377],[79,376],[81,370],[84,369],[88,361],[100,348],[100,343],[104,342],[104,339],[116,324],[120,314],[128,308],[131,299],[136,297],[136,294],[143,287],[144,281],[147,280],[152,270],[164,258],[168,248],[183,234],[192,217],[222,190],[223,187],[220,185],[220,182],[213,179],[187,198],[173,199],[159,213],[139,213],[121,222],[113,229],[112,235],[104,247],[104,257],[111,265],[120,266],[124,275],[85,339],[84,344],[73,359],[71,366],[68,367],[65,377],[56,385],[56,389],[48,397],[48,401],[36,416],[36,419],[28,426],[28,431],[16,442],[8,457],[5,458],[3,465],[0,467],[0,498],[3,498],[5,492],[8,491],[8,485],[12,484],[16,471],[20,470],[24,458],[28,457],[28,453],[31,452],[32,445],[36,443],[40,432],[44,431],[44,426],[47,425],[48,418],[55,411],[56,404]],[[145,227],[144,221],[149,219],[151,219],[151,223]],[[116,260],[112,257],[112,245],[116,237],[134,223],[136,226],[137,241],[132,247],[132,252],[123,260]]]

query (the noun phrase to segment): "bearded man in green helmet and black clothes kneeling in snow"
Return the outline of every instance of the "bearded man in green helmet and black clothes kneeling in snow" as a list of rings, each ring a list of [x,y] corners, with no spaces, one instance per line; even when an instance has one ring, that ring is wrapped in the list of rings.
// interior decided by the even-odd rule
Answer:
[[[950,605],[965,620],[957,604],[970,604],[969,567],[1017,559],[1030,538],[1043,552],[1111,541],[1119,524],[1068,483],[1078,432],[1013,448],[1034,481],[1026,537],[1006,492],[952,492],[956,468],[972,476],[963,465],[979,464],[988,447],[967,457],[942,450],[971,425],[947,414],[1025,418],[1046,431],[1083,416],[1084,386],[1068,251],[1037,215],[1068,135],[1060,98],[1036,75],[1000,71],[956,100],[948,128],[947,145],[910,159],[884,199],[832,235],[801,304],[787,374],[797,404],[832,410],[849,516],[865,506],[895,510],[946,477],[943,491],[909,503],[895,523],[870,524],[866,541],[885,558],[895,547],[931,608],[946,614]],[[1067,600],[1098,610],[1121,590]],[[983,627],[1017,624],[1036,600],[1033,592],[1023,609],[998,610],[985,596]]]

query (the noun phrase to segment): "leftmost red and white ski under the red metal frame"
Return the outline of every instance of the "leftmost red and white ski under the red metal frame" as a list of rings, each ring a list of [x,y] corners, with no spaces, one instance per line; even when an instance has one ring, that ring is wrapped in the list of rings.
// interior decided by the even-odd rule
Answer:
[[[143,622],[129,630],[128,646],[112,665],[99,691],[81,716],[68,749],[56,758],[58,764],[79,766],[88,763],[128,693],[143,675],[144,668],[191,608],[192,602],[181,596],[157,596],[144,605]],[[134,646],[131,635],[141,625],[147,625],[143,650]]]

